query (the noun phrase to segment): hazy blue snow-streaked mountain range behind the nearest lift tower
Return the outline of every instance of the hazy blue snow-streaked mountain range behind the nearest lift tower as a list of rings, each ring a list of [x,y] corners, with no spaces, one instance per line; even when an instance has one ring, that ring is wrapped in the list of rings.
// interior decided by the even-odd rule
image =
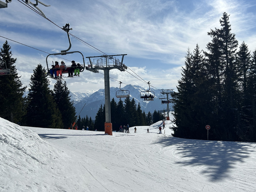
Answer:
[[[155,94],[155,98],[154,101],[144,101],[143,99],[140,98],[140,92],[141,91],[146,91],[144,88],[137,86],[137,85],[126,85],[125,87],[121,88],[124,90],[129,90],[130,91],[130,97],[131,99],[134,98],[136,105],[138,106],[138,103],[140,103],[141,106],[141,110],[145,111],[145,113],[147,114],[149,111],[151,113],[154,112],[154,110],[156,111],[160,111],[165,109],[165,111],[167,111],[167,104],[162,104],[161,99],[159,99],[159,95],[161,95],[160,91],[161,90],[156,90],[156,89],[150,89],[150,91],[154,91]],[[118,103],[119,98],[116,98],[116,92],[120,91],[120,89],[118,87],[110,87],[110,100],[112,100],[112,98],[115,99],[116,103]],[[72,93],[72,98],[74,99],[74,106],[76,108],[76,113],[77,115],[80,113],[81,118],[85,117],[86,115],[88,115],[88,117],[95,119],[95,116],[100,108],[100,106],[104,105],[105,103],[105,90],[104,89],[99,89],[98,91],[96,91],[93,94],[86,94],[86,93],[80,93],[76,92],[76,97],[73,95],[74,93]],[[79,98],[79,95],[81,96]],[[85,95],[83,97],[83,95]],[[170,95],[169,95],[170,97]],[[125,98],[121,98],[123,101],[125,100]],[[85,104],[86,103],[86,104]],[[169,108],[171,111],[171,104],[169,104]]]

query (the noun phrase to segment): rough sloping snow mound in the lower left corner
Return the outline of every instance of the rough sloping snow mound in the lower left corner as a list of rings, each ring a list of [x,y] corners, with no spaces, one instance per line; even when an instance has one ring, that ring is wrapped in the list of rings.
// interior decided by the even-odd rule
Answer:
[[[60,155],[37,133],[0,118],[0,148],[0,181],[3,184],[0,189],[9,192],[22,191],[20,189],[24,188],[37,191],[39,183],[30,180],[24,187],[21,179],[31,179],[35,175],[40,178],[45,188],[51,185],[44,180],[47,174],[43,170],[53,170],[49,167],[56,166],[55,162],[58,162]]]

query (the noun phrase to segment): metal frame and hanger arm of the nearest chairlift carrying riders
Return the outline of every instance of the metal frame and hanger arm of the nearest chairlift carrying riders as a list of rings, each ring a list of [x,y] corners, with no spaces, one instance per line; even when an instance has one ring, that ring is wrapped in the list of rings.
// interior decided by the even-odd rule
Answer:
[[[67,23],[65,26],[63,26],[62,29],[67,32],[68,41],[69,41],[69,48],[67,50],[61,51],[60,53],[52,53],[52,54],[47,55],[47,57],[46,57],[46,65],[47,65],[47,71],[48,71],[47,74],[50,74],[50,68],[49,68],[48,62],[47,62],[47,58],[50,55],[66,55],[66,54],[72,54],[72,53],[80,53],[82,55],[83,64],[80,65],[80,67],[81,67],[80,72],[83,72],[84,69],[85,69],[85,63],[84,63],[84,56],[83,56],[83,54],[80,51],[70,51],[70,52],[68,52],[70,50],[70,48],[71,48],[71,41],[70,41],[70,37],[69,37],[69,30],[72,30],[72,28],[69,28],[69,23]],[[70,66],[66,65],[66,66],[67,66],[67,69],[63,70],[62,73],[68,73],[68,70],[71,68],[71,65]]]

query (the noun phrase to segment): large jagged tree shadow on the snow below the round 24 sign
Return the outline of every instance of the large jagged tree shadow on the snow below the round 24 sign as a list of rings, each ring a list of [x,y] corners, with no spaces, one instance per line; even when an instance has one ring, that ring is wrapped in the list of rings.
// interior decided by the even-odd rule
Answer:
[[[228,177],[230,171],[236,171],[237,164],[246,162],[253,143],[206,141],[182,139],[176,137],[161,137],[156,141],[164,147],[176,146],[172,152],[180,161],[174,163],[182,166],[200,166],[205,168],[202,174],[208,175],[212,180],[221,180]],[[254,147],[254,146],[253,146]]]

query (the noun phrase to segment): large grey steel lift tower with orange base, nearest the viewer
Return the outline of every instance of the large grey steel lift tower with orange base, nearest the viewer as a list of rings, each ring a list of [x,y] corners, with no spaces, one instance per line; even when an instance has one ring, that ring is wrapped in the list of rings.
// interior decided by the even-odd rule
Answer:
[[[105,133],[112,135],[112,123],[111,123],[111,112],[110,112],[110,86],[109,86],[109,70],[119,69],[125,71],[127,66],[123,64],[124,56],[122,55],[102,55],[86,57],[89,59],[88,67],[85,69],[94,73],[99,73],[99,70],[104,71],[104,84],[105,84]],[[121,57],[118,59],[118,57]],[[92,60],[93,58],[93,60]]]

